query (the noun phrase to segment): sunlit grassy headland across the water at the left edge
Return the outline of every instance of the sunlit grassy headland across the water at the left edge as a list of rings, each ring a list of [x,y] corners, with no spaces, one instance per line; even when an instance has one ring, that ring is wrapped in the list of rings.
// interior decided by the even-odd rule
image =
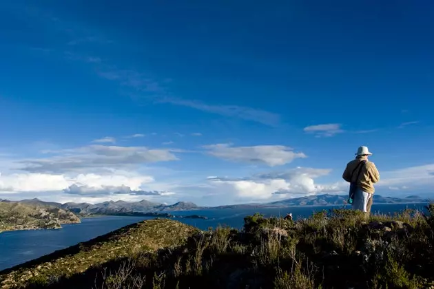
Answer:
[[[61,228],[61,224],[79,223],[80,218],[70,211],[47,205],[0,202],[0,232]]]

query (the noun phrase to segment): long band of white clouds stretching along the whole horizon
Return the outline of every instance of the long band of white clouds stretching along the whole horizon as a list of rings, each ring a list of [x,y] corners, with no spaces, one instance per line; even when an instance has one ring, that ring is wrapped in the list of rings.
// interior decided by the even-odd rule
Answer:
[[[0,159],[0,197],[14,200],[48,196],[48,200],[101,202],[104,200],[187,200],[198,204],[234,204],[271,202],[282,198],[320,193],[347,193],[348,184],[330,177],[331,169],[296,167],[287,169],[302,152],[280,145],[236,147],[232,144],[209,144],[189,153],[206,153],[227,162],[262,165],[262,173],[233,178],[180,177],[172,171],[168,181],[156,178],[150,164],[180,160],[180,149],[152,149],[93,144],[85,147],[44,151],[41,158]],[[200,155],[200,154],[199,154]],[[17,167],[19,164],[19,167]],[[14,167],[15,169],[9,168]],[[271,169],[273,168],[273,169]],[[282,168],[282,169],[276,169]],[[152,173],[154,171],[154,173]],[[434,164],[380,171],[376,185],[382,194],[426,191],[434,185]],[[194,175],[194,174],[193,174]],[[326,181],[324,181],[326,180]]]

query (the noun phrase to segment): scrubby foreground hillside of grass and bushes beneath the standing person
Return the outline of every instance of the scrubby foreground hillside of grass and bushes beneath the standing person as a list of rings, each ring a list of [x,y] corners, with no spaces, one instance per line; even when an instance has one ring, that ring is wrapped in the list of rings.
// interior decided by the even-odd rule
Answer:
[[[369,219],[344,210],[297,222],[257,213],[242,231],[149,220],[0,272],[0,281],[4,288],[434,288],[434,205]]]

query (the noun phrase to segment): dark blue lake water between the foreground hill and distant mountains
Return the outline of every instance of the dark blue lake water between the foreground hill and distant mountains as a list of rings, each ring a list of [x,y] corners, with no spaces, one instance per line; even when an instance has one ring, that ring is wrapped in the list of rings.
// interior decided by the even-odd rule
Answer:
[[[405,208],[423,208],[426,204],[374,204],[373,213],[394,213]],[[292,213],[295,219],[308,217],[313,211],[337,208],[338,206],[298,206],[289,208],[249,208],[249,209],[224,209],[224,210],[200,210],[174,212],[174,215],[203,215],[208,220],[202,219],[176,219],[180,222],[196,226],[206,230],[218,225],[229,225],[234,228],[242,228],[243,218],[247,215],[259,212],[268,216],[285,216]],[[153,217],[90,217],[81,220],[81,224],[63,225],[60,230],[32,230],[12,231],[0,233],[0,270],[10,268],[25,261],[47,255],[85,242],[89,239],[109,233],[128,224],[133,224]]]

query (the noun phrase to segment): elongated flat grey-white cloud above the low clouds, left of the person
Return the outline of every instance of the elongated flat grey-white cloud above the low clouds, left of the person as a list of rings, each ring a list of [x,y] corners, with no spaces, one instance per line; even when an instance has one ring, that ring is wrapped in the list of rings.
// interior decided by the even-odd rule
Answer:
[[[295,153],[282,145],[258,145],[253,147],[231,147],[231,144],[210,144],[204,146],[207,153],[217,158],[235,162],[267,164],[270,167],[288,164],[296,158],[307,158],[304,153]]]

